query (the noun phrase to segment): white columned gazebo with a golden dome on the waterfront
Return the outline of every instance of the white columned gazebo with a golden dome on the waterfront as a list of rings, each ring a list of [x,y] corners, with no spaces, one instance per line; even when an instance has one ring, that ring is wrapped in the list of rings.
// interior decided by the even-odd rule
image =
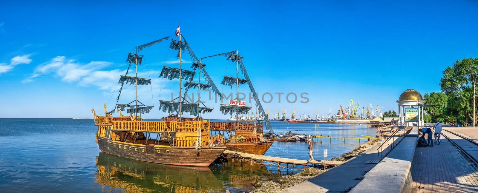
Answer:
[[[416,123],[418,127],[424,126],[424,109],[419,104],[424,104],[425,101],[418,91],[414,89],[407,89],[403,91],[396,102],[398,103],[399,125],[407,122],[407,126],[413,126],[413,123]],[[405,108],[418,108],[418,119],[414,121],[407,120],[405,117]]]

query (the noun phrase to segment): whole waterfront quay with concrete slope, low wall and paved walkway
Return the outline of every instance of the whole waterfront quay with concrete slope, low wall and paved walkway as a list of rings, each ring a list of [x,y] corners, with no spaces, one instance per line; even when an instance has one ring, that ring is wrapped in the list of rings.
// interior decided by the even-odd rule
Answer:
[[[365,163],[376,159],[380,144],[283,192],[478,192],[477,129],[444,127],[439,145],[416,147],[415,127],[378,164]]]

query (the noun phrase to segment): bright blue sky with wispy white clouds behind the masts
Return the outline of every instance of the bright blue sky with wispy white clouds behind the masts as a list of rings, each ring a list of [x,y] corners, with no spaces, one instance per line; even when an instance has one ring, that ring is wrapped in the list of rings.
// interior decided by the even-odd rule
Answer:
[[[277,113],[336,113],[350,98],[385,110],[407,88],[440,91],[446,66],[477,57],[477,1],[3,1],[0,7],[0,118],[71,118],[114,106],[117,81],[134,47],[181,32],[199,57],[239,50],[256,90],[308,93],[309,102],[277,95],[264,108]],[[143,103],[171,99],[178,82],[158,77],[163,64],[177,66],[169,41],[141,52]],[[235,65],[203,61],[220,90]],[[185,67],[190,58],[185,57]],[[248,92],[247,86],[239,91]],[[126,88],[120,102],[134,97]],[[197,97],[197,96],[196,96]],[[202,98],[205,100],[204,98]],[[300,98],[299,98],[300,100]],[[205,118],[220,115],[218,104]],[[145,118],[165,113],[153,108]]]

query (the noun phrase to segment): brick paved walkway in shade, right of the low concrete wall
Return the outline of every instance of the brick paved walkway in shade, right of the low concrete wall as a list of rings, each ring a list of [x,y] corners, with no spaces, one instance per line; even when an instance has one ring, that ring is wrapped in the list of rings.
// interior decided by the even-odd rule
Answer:
[[[418,193],[478,192],[476,166],[444,137],[440,145],[416,148],[412,168]]]

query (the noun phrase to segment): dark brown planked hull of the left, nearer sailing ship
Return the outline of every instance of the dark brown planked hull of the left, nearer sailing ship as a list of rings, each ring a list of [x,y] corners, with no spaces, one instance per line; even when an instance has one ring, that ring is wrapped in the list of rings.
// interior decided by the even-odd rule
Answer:
[[[209,166],[225,150],[224,147],[202,148],[202,150],[197,153],[195,148],[125,144],[102,137],[98,137],[98,148],[108,154],[138,161],[203,167]]]

